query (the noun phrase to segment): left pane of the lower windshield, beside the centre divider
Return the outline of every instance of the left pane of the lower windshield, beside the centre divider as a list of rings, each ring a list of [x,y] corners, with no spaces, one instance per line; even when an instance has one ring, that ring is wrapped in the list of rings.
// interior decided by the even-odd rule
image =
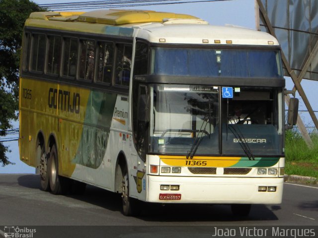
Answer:
[[[204,137],[198,153],[219,153],[218,87],[154,85],[152,91],[152,152],[184,154]]]

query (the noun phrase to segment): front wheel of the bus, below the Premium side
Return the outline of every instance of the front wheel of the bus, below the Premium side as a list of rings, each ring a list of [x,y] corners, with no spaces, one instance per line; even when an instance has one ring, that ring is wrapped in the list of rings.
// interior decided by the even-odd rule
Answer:
[[[122,202],[123,214],[125,216],[138,216],[140,215],[140,201],[135,198],[129,197],[129,177],[127,167],[123,170],[122,180]]]

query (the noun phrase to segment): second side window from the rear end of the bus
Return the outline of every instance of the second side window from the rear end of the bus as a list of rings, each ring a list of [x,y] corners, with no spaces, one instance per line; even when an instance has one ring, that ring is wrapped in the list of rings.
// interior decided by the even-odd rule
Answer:
[[[43,72],[45,60],[46,37],[44,34],[32,35],[31,70]]]

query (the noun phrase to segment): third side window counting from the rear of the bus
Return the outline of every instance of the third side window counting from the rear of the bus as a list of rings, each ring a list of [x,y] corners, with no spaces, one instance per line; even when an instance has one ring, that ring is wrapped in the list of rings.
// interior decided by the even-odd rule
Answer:
[[[46,72],[54,75],[60,74],[62,40],[59,36],[48,36],[48,61]]]

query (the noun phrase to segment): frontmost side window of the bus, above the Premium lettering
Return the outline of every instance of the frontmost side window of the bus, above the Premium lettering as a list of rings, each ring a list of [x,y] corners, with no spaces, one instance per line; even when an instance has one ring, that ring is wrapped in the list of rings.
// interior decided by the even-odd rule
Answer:
[[[117,45],[115,85],[129,86],[132,51],[132,46]]]

